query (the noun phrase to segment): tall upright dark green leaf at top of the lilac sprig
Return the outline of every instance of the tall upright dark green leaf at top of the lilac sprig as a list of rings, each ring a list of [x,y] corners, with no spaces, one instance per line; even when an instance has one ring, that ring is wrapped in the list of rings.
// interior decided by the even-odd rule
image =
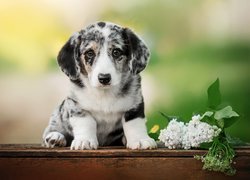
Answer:
[[[221,104],[220,81],[217,80],[207,89],[208,107],[216,109]]]

